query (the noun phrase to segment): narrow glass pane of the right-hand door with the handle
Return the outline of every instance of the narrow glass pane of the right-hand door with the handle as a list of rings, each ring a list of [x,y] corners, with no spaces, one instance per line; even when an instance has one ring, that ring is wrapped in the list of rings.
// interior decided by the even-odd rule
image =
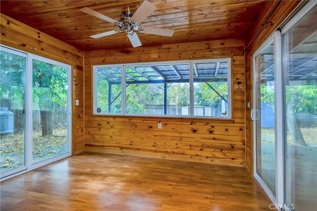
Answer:
[[[255,121],[256,172],[275,193],[275,100],[273,41],[255,57],[255,106],[260,119]]]

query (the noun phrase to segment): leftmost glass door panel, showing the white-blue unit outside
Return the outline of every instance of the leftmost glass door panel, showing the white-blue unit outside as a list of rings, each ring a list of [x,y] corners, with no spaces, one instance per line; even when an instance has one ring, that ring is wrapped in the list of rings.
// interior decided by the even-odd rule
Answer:
[[[25,169],[25,54],[0,52],[0,173]],[[5,52],[4,52],[5,51]]]

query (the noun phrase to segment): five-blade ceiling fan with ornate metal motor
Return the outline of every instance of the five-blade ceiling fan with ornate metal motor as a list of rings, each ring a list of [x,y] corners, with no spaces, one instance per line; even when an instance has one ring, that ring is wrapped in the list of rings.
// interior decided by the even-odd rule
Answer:
[[[168,37],[173,36],[174,30],[172,29],[162,29],[162,28],[155,28],[155,27],[148,27],[148,26],[139,27],[139,24],[142,23],[152,12],[154,12],[154,10],[156,10],[156,6],[150,3],[149,1],[145,0],[143,1],[141,6],[137,9],[135,13],[131,11],[125,11],[122,13],[121,18],[119,20],[114,20],[106,15],[103,15],[87,7],[83,7],[80,9],[80,11],[82,12],[101,18],[107,22],[114,23],[120,28],[120,29],[115,29],[108,32],[92,35],[90,36],[91,38],[101,38],[101,37],[116,34],[119,32],[126,32],[127,37],[129,38],[134,48],[142,46],[141,41],[136,32],[162,35],[162,36],[168,36]]]

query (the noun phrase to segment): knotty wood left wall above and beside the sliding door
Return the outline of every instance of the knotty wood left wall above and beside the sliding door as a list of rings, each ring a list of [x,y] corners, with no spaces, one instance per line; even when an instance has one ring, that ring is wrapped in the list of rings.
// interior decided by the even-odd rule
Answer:
[[[72,105],[79,99],[79,106],[73,106],[72,155],[84,151],[84,71],[83,51],[26,24],[0,14],[0,44],[27,53],[50,58],[72,67]]]

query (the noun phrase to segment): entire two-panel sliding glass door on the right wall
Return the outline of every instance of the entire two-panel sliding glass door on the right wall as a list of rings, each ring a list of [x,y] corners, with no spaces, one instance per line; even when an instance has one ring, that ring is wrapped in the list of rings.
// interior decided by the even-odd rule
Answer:
[[[317,209],[316,17],[307,1],[253,55],[254,175],[279,210]]]

